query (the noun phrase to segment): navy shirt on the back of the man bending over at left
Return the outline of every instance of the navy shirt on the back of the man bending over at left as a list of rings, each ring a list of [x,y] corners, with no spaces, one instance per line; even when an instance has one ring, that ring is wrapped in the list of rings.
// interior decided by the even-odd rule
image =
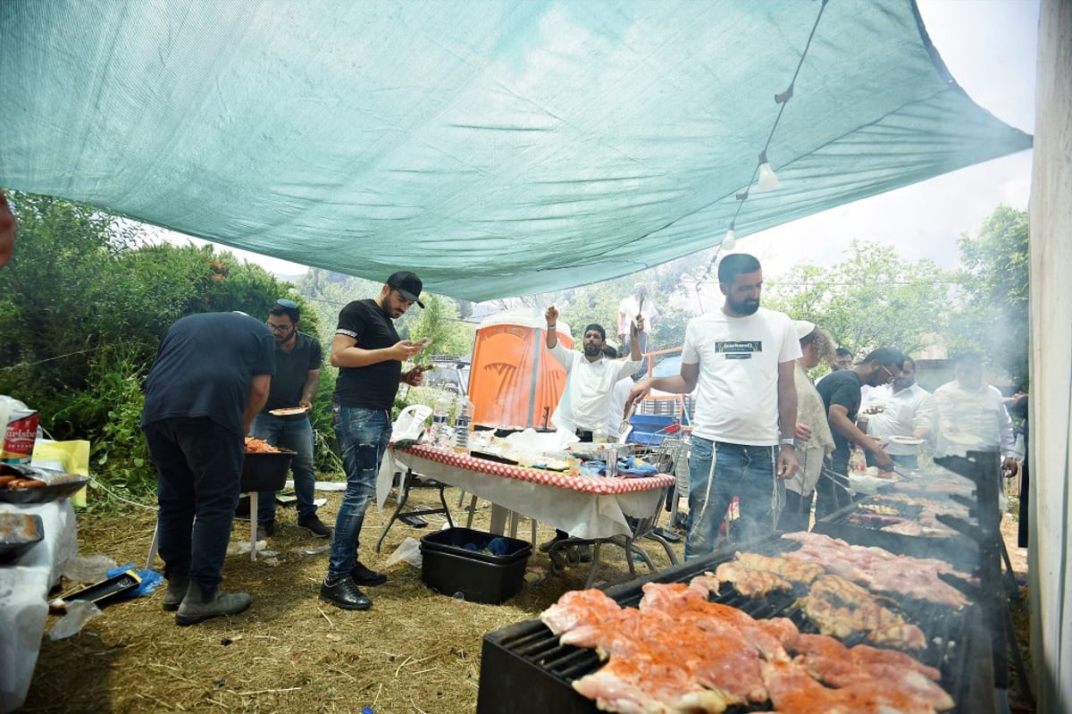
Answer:
[[[189,315],[167,328],[145,383],[142,426],[207,416],[245,433],[250,383],[276,373],[276,341],[259,319],[235,312]]]

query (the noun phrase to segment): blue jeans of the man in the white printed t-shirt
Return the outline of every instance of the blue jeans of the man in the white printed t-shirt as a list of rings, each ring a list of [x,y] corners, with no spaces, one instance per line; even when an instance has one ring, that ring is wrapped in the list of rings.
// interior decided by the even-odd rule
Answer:
[[[739,500],[741,515],[734,524],[735,540],[749,540],[773,532],[773,446],[744,446],[693,436],[688,457],[685,560],[702,557],[714,550],[733,496]]]

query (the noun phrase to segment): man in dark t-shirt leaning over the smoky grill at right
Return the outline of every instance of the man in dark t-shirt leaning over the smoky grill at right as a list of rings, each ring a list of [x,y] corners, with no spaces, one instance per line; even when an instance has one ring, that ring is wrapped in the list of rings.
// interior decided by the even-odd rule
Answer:
[[[897,349],[879,347],[855,367],[831,372],[816,384],[834,435],[830,468],[823,470],[823,477],[815,487],[816,520],[849,504],[849,457],[855,446],[870,452],[880,468],[893,470],[893,461],[878,441],[857,427],[857,412],[860,411],[860,388],[865,384],[872,387],[890,384],[900,376],[904,363],[905,356]]]

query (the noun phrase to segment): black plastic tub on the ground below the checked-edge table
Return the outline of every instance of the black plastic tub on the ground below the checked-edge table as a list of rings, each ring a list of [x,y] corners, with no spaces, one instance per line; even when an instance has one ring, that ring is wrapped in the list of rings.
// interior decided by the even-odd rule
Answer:
[[[473,603],[498,605],[521,591],[533,547],[517,538],[455,527],[421,538],[420,552],[426,585],[444,595],[461,593]]]

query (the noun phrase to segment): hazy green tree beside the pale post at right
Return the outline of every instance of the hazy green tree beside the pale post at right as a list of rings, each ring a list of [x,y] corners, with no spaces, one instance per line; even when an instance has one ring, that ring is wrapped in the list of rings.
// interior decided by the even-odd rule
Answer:
[[[1027,211],[998,206],[974,238],[961,236],[965,300],[951,334],[953,348],[979,352],[1023,388],[1030,352],[1029,233]]]

